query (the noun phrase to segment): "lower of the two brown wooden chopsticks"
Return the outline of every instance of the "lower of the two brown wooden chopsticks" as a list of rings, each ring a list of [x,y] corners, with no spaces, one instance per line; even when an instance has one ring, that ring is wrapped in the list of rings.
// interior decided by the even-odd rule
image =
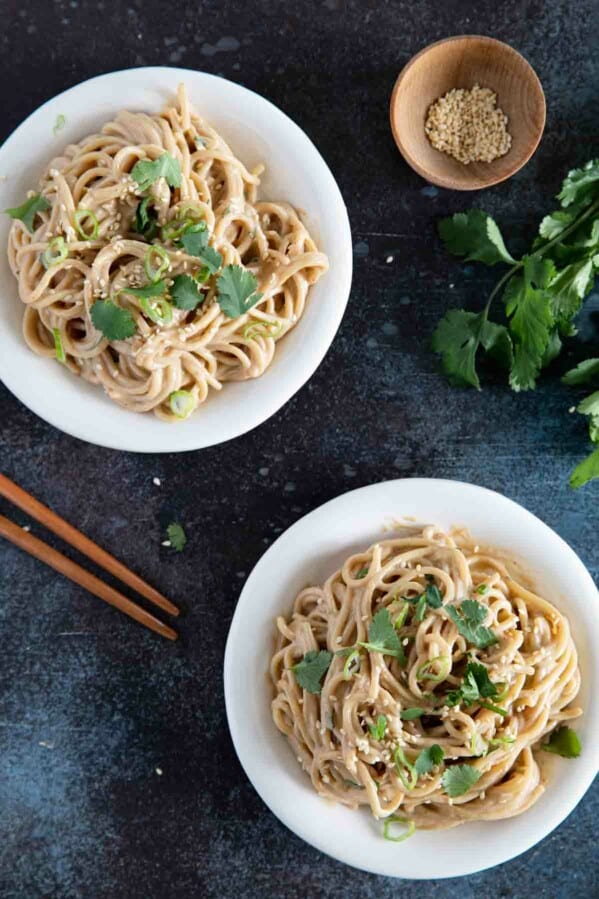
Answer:
[[[42,506],[42,508],[45,507]],[[75,528],[73,528],[73,530],[75,530]],[[79,532],[76,531],[76,533]],[[166,637],[167,640],[177,639],[177,632],[171,627],[163,624],[162,621],[159,621],[158,618],[155,618],[149,612],[146,612],[145,609],[136,606],[134,602],[131,602],[130,599],[127,599],[127,597],[123,596],[122,593],[119,593],[118,590],[109,587],[108,584],[105,584],[104,581],[101,581],[90,571],[86,571],[85,568],[81,568],[76,562],[67,559],[62,553],[59,553],[51,546],[48,546],[43,540],[38,540],[37,537],[34,537],[33,534],[30,534],[28,531],[24,531],[18,524],[14,524],[14,522],[5,518],[3,515],[0,515],[0,535],[6,537],[6,539],[10,540],[11,543],[14,543],[15,546],[18,546],[30,555],[35,556],[40,562],[45,562],[46,565],[50,565],[51,568],[54,568],[72,581],[75,581],[76,584],[85,587],[86,590],[89,590],[90,593],[103,599],[104,602],[120,609],[125,615],[129,615],[130,618],[134,618],[135,621],[139,621],[140,624],[149,627],[150,630],[155,631],[162,637]],[[91,540],[89,543],[91,543]],[[108,553],[106,553],[106,555],[108,555]]]

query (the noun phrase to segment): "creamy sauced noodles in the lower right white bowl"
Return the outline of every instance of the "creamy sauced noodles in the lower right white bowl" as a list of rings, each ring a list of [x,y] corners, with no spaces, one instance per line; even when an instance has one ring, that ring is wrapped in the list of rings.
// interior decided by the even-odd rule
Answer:
[[[350,556],[322,587],[301,591],[289,620],[277,620],[274,722],[321,796],[368,806],[377,818],[399,812],[419,828],[446,828],[517,815],[544,789],[541,738],[581,714],[571,706],[580,674],[568,622],[466,531],[414,526],[406,534]],[[416,601],[432,585],[442,605],[428,605],[419,622]],[[465,597],[486,610],[496,642],[485,648],[467,640],[446,612]],[[348,665],[349,648],[369,640],[382,609],[396,624],[405,664],[358,647],[359,661]],[[312,693],[291,669],[320,650],[331,661],[321,692]],[[447,702],[468,664],[484,665],[497,699]],[[420,714],[402,720],[406,709]],[[377,721],[384,736],[373,735]],[[443,750],[443,763],[411,780],[418,754],[432,746]],[[452,798],[444,773],[464,763],[478,779]]]

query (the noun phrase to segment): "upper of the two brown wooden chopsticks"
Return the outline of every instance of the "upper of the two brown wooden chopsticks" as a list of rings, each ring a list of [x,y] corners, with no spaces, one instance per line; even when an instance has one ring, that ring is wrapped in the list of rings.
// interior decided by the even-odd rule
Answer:
[[[0,495],[10,500],[11,503],[14,503],[15,506],[18,506],[23,512],[27,512],[28,515],[31,515],[32,518],[35,518],[40,524],[43,524],[58,537],[62,537],[63,540],[70,543],[75,549],[78,549],[84,556],[88,556],[88,558],[101,568],[104,568],[106,571],[110,572],[110,574],[114,574],[120,581],[127,584],[141,596],[145,596],[145,598],[149,599],[150,602],[153,602],[154,605],[159,606],[171,615],[179,614],[177,606],[173,605],[166,596],[163,596],[162,593],[159,593],[154,587],[146,584],[140,577],[132,571],[129,571],[122,562],[119,562],[118,559],[111,556],[110,553],[102,549],[101,546],[98,546],[97,543],[94,543],[93,540],[90,540],[89,537],[86,537],[85,534],[82,534],[81,531],[74,528],[72,524],[69,524],[68,521],[65,521],[64,518],[57,515],[56,512],[53,512],[47,506],[44,506],[43,503],[40,503],[39,500],[35,499],[30,493],[27,493],[26,490],[23,490],[22,487],[19,487],[18,484],[15,484],[14,481],[11,481],[10,478],[7,478],[6,475],[3,474],[0,474]],[[8,539],[10,539],[10,537]],[[42,543],[42,545],[45,546],[46,544]],[[45,561],[45,559],[42,559],[42,561]],[[83,568],[80,570],[84,571]],[[70,577],[70,575],[67,575],[67,577]],[[73,580],[75,580],[75,578],[73,578]],[[98,583],[101,583],[101,581],[98,580]],[[92,590],[92,593],[93,592],[94,591]],[[117,591],[113,592],[116,593]],[[118,595],[120,596],[120,594]]]

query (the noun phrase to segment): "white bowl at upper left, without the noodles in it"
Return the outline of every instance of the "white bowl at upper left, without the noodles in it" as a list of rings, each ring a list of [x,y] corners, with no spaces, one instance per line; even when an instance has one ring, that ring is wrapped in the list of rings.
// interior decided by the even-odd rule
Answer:
[[[0,209],[22,203],[62,147],[110,121],[119,109],[159,112],[184,81],[191,102],[246,166],[264,162],[261,199],[303,209],[330,269],[311,289],[305,314],[277,345],[274,361],[256,380],[226,384],[184,422],[121,409],[102,390],[75,378],[54,360],[36,356],[21,335],[23,304],[6,258],[10,219],[0,215],[0,378],[50,424],[100,446],[137,452],[178,452],[222,443],[273,415],[322,361],[341,322],[352,275],[347,211],[331,172],[304,132],[276,106],[224,78],[177,68],[112,72],[49,100],[0,148]],[[58,115],[66,125],[56,135]]]

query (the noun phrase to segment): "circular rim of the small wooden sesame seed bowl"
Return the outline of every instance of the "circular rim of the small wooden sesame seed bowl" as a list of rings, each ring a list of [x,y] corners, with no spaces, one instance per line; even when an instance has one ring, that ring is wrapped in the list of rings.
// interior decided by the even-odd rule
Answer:
[[[521,158],[518,159],[518,161],[514,164],[514,166],[512,166],[512,168],[510,168],[503,175],[498,175],[498,176],[490,175],[488,178],[482,178],[479,176],[478,178],[472,178],[468,183],[458,182],[458,181],[456,181],[455,178],[452,178],[450,176],[437,175],[434,172],[431,172],[428,169],[424,168],[424,166],[420,165],[418,160],[415,159],[408,152],[406,147],[404,146],[402,139],[399,135],[399,131],[396,127],[395,116],[394,116],[397,95],[399,94],[399,91],[401,90],[402,82],[404,81],[409,70],[420,59],[420,57],[424,56],[426,53],[428,53],[430,50],[433,50],[435,47],[441,46],[442,44],[450,44],[450,43],[454,43],[455,41],[463,41],[463,40],[479,41],[483,44],[494,44],[496,47],[500,47],[502,50],[507,50],[509,52],[509,54],[512,55],[514,58],[517,57],[519,60],[521,60],[524,63],[524,69],[525,69],[525,71],[528,71],[528,76],[531,80],[531,83],[533,84],[533,86],[535,88],[535,92],[536,92],[537,98],[538,98],[539,108],[542,113],[542,120],[541,120],[541,124],[539,126],[539,130],[538,130],[536,139],[531,142],[531,145],[530,145],[528,151],[524,154],[524,156],[522,156]],[[529,61],[526,59],[525,56],[522,55],[522,53],[520,53],[518,50],[516,50],[510,44],[506,44],[505,41],[500,41],[497,38],[489,37],[486,34],[455,34],[455,35],[452,35],[451,37],[444,37],[438,41],[434,41],[432,44],[427,44],[426,47],[423,47],[422,50],[419,50],[418,53],[415,53],[414,56],[412,56],[412,58],[408,60],[408,62],[405,64],[405,66],[403,67],[403,69],[401,70],[399,75],[397,76],[395,84],[393,86],[393,91],[391,93],[391,102],[389,104],[389,119],[390,119],[390,123],[391,123],[391,131],[393,133],[393,139],[395,140],[395,143],[397,144],[397,148],[398,148],[399,152],[401,153],[401,155],[403,156],[403,158],[406,160],[408,165],[412,169],[414,169],[415,172],[417,172],[417,174],[419,174],[422,178],[424,178],[425,181],[428,181],[430,184],[436,184],[438,187],[449,188],[450,190],[481,190],[481,188],[492,187],[494,184],[500,184],[502,181],[507,181],[508,178],[511,178],[512,175],[515,175],[516,172],[520,171],[520,169],[526,165],[526,163],[529,161],[529,159],[531,158],[531,156],[533,155],[533,153],[539,146],[539,143],[543,136],[543,132],[545,130],[546,118],[547,118],[547,104],[545,101],[545,92],[543,91],[543,85],[541,84],[539,76],[537,75],[537,73],[535,72],[535,70],[529,63]]]

